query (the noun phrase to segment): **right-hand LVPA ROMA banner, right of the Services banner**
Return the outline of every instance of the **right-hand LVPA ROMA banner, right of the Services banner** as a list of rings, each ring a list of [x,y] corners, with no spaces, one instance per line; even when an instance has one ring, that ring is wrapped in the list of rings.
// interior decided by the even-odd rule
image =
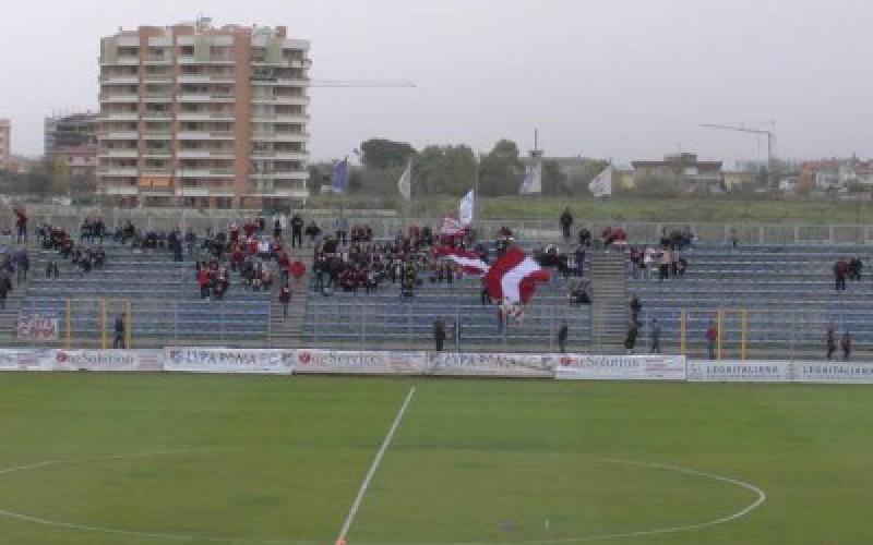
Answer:
[[[550,378],[555,362],[554,354],[428,352],[428,372],[432,375]]]

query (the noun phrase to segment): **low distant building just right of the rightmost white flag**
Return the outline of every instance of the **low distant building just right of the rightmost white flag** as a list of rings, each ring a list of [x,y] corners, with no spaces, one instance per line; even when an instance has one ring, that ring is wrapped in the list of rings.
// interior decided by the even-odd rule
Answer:
[[[680,184],[692,192],[705,189],[713,193],[725,190],[721,161],[698,161],[695,154],[668,155],[662,161],[633,161],[634,186],[643,187],[656,180]]]

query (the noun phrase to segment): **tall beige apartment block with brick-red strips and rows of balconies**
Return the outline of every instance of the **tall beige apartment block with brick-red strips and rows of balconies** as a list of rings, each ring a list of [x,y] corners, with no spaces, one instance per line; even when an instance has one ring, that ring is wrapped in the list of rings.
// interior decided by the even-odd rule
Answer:
[[[119,32],[99,62],[98,193],[273,209],[309,195],[309,41],[200,20]]]

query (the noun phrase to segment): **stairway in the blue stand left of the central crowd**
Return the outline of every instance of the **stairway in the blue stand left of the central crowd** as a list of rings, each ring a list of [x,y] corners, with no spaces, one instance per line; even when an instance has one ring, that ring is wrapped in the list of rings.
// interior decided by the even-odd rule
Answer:
[[[310,274],[312,272],[312,250],[289,250],[288,257],[291,262],[300,261],[307,266],[307,274],[295,281],[290,278],[291,302],[288,304],[288,317],[283,317],[282,303],[279,303],[279,288],[276,286],[270,303],[270,347],[297,348],[303,337],[303,320],[307,315],[307,296],[309,294]]]

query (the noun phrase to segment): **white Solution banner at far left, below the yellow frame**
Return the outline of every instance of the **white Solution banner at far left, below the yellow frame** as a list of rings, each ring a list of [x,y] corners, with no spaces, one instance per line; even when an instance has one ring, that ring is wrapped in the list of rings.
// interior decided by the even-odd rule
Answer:
[[[162,371],[163,350],[45,350],[45,371]]]

